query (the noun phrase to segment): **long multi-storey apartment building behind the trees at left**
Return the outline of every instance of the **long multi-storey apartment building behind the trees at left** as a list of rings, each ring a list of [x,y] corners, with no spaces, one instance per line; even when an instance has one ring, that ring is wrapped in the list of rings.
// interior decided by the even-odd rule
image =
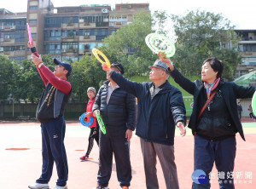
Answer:
[[[29,58],[26,22],[39,54],[60,60],[79,60],[91,49],[102,46],[102,39],[131,23],[132,16],[148,3],[120,3],[77,7],[54,7],[49,0],[28,0],[26,13],[0,9],[0,54],[20,62]]]

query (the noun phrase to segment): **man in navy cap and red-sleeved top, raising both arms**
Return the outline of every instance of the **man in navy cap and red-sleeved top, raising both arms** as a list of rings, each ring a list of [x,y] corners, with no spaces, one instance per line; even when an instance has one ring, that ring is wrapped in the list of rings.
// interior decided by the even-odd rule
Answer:
[[[32,53],[36,48],[28,43]],[[55,189],[67,188],[67,154],[64,146],[66,124],[63,117],[72,88],[67,77],[72,72],[68,62],[54,60],[55,71],[51,72],[41,59],[41,55],[32,54],[32,62],[37,66],[38,72],[45,85],[44,93],[38,103],[37,119],[41,123],[42,132],[42,175],[35,184],[28,186],[32,189],[49,188],[48,182],[52,175],[54,162],[56,164],[58,180]]]

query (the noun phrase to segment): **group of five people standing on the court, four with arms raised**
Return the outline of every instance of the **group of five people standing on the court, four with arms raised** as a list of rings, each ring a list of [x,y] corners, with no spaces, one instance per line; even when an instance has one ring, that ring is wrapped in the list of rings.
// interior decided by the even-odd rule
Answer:
[[[32,53],[36,52],[32,44],[29,43],[29,47]],[[130,140],[134,129],[140,138],[146,187],[159,188],[156,174],[158,157],[166,188],[179,188],[174,136],[176,127],[182,136],[186,135],[187,117],[183,96],[180,90],[168,82],[170,76],[189,94],[194,95],[193,112],[189,119],[189,128],[195,136],[194,169],[203,170],[207,175],[207,182],[193,183],[192,188],[210,188],[209,174],[214,162],[219,172],[228,173],[234,170],[236,133],[238,132],[245,140],[237,113],[236,99],[251,98],[255,88],[224,82],[224,63],[215,57],[202,63],[201,80],[191,82],[173,66],[172,61],[166,58],[166,54],[158,55],[160,59],[156,60],[153,66],[149,66],[149,79],[152,82],[131,82],[123,77],[125,69],[121,64],[114,63],[110,68],[103,64],[102,69],[106,71],[108,81],[97,94],[94,88],[87,90],[90,98],[86,110],[89,112],[87,117],[96,117],[98,112],[107,131],[104,135],[98,129],[95,119],[95,124],[90,127],[88,151],[81,157],[81,160],[89,158],[95,139],[99,146],[96,189],[108,189],[113,155],[119,185],[121,188],[129,188],[132,178]],[[45,90],[37,110],[37,118],[42,128],[43,169],[40,178],[29,188],[49,188],[48,182],[55,162],[58,172],[55,189],[66,189],[68,169],[63,143],[66,128],[63,114],[72,91],[71,84],[67,82],[72,66],[67,62],[54,60],[57,66],[55,72],[50,72],[40,56],[32,54],[32,61],[44,80]],[[228,181],[219,182],[220,188],[235,188],[233,178],[225,180]]]

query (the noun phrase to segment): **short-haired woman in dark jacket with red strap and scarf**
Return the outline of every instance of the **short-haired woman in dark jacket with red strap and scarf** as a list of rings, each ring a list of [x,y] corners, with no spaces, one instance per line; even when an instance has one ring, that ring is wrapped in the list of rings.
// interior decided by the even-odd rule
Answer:
[[[174,81],[189,94],[194,95],[193,112],[189,120],[189,128],[195,136],[194,169],[203,170],[207,179],[199,180],[198,183],[193,182],[192,188],[211,187],[209,175],[214,162],[218,170],[219,188],[235,188],[233,170],[236,158],[236,133],[238,132],[245,140],[237,113],[236,99],[252,98],[255,87],[242,87],[236,83],[224,82],[224,63],[215,57],[202,63],[201,80],[191,82],[178,72],[172,61],[166,58],[166,54],[158,55],[160,60],[169,66]],[[209,104],[202,110],[207,100]]]

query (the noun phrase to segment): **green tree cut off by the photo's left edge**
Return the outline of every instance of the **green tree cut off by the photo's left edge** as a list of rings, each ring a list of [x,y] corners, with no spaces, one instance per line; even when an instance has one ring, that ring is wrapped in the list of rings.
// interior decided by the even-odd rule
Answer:
[[[13,63],[5,55],[0,55],[0,100],[6,100],[13,81]]]

